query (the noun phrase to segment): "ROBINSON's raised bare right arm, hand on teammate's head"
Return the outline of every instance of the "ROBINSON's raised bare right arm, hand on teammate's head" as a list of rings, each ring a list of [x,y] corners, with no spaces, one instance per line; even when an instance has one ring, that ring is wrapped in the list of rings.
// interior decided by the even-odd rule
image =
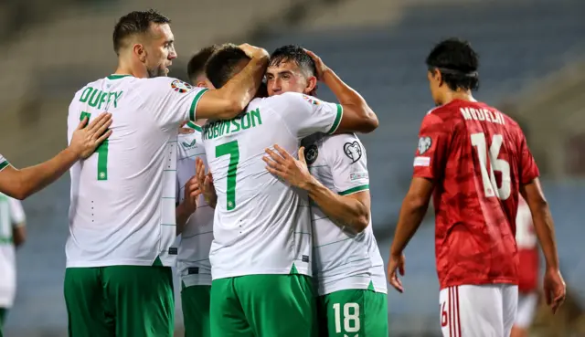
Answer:
[[[342,132],[373,132],[378,128],[378,116],[367,105],[367,101],[356,91],[341,80],[335,72],[324,65],[321,58],[313,52],[307,53],[314,59],[317,69],[317,79],[334,93],[343,109],[343,117],[336,127],[335,133]]]

